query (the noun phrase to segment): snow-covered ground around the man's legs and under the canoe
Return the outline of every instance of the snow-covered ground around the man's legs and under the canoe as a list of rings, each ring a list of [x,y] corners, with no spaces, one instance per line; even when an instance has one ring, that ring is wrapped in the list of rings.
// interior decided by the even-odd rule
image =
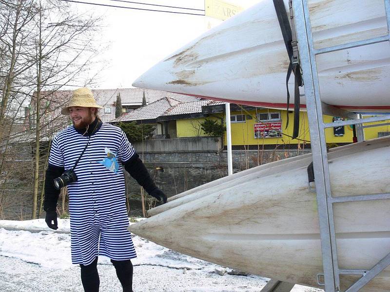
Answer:
[[[82,292],[70,254],[69,219],[53,231],[44,219],[0,220],[1,292]],[[134,292],[258,292],[269,280],[234,271],[133,237]],[[100,292],[121,291],[108,258],[99,257]],[[293,292],[322,290],[295,285]]]

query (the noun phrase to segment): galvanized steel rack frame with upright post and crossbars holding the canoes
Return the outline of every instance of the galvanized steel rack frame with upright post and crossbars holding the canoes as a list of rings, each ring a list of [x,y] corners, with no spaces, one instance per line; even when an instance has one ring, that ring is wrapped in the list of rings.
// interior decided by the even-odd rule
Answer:
[[[390,30],[390,0],[385,1],[388,32]],[[323,109],[329,113],[332,108],[324,105],[320,99],[315,55],[325,54],[338,50],[363,46],[383,41],[390,41],[390,34],[382,37],[352,42],[316,50],[313,45],[312,28],[310,24],[308,0],[292,0],[294,23],[299,48],[300,65],[303,72],[305,87],[306,106],[308,111],[310,136],[312,145],[313,168],[315,177],[315,190],[317,194],[319,227],[321,233],[321,249],[324,269],[325,292],[340,291],[340,274],[360,274],[362,277],[355,282],[346,292],[357,292],[366,285],[373,277],[379,274],[390,264],[390,253],[380,260],[369,271],[342,270],[338,267],[336,234],[333,218],[333,203],[341,201],[367,201],[389,199],[390,194],[374,194],[364,196],[349,196],[345,198],[332,198],[331,183],[328,166],[328,155],[325,140],[325,128],[334,127],[333,124],[324,124],[322,115]],[[335,111],[341,116],[340,110]],[[342,113],[342,112],[341,112]],[[351,117],[351,113],[345,112],[345,116]],[[357,124],[358,141],[364,141],[363,122],[383,121],[390,116],[373,117],[362,119],[361,115],[354,115],[353,120],[338,122],[340,125]]]

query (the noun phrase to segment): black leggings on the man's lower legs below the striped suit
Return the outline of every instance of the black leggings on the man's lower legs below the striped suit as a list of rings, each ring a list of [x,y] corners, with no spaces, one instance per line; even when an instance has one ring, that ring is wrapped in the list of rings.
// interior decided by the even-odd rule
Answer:
[[[123,292],[133,292],[133,264],[130,259],[114,260],[112,259]],[[82,265],[81,268],[81,283],[85,292],[99,292],[100,279],[98,274],[98,257],[89,264]]]

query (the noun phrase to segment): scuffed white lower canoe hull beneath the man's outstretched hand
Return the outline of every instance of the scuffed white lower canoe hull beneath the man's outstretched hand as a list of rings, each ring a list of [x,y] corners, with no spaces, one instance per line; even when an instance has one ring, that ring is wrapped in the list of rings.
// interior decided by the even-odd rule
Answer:
[[[384,137],[331,149],[333,197],[390,192],[389,146]],[[323,267],[316,195],[308,190],[311,161],[302,155],[200,186],[129,230],[222,266],[318,287]],[[390,252],[390,200],[342,202],[333,210],[341,269],[370,269]],[[343,275],[342,289],[356,279]],[[361,291],[389,287],[390,267]]]

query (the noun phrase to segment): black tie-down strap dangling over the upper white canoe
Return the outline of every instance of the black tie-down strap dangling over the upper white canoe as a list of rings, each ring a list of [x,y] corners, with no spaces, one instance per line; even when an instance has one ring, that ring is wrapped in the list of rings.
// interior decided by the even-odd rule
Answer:
[[[286,45],[287,54],[289,55],[289,68],[287,70],[286,87],[287,87],[287,111],[290,107],[290,92],[289,92],[289,79],[291,72],[295,75],[295,86],[294,86],[294,130],[292,139],[299,136],[299,105],[300,95],[299,87],[303,85],[301,68],[298,62],[297,42],[295,33],[292,35],[292,29],[290,26],[289,18],[287,16],[286,8],[284,7],[283,0],[273,0],[273,6],[275,7],[277,19],[279,21],[280,30],[282,31],[284,44]],[[292,1],[290,0],[290,11],[292,12]],[[291,16],[292,18],[292,16]],[[294,37],[294,40],[293,40]],[[287,125],[289,125],[289,114],[287,112]]]

